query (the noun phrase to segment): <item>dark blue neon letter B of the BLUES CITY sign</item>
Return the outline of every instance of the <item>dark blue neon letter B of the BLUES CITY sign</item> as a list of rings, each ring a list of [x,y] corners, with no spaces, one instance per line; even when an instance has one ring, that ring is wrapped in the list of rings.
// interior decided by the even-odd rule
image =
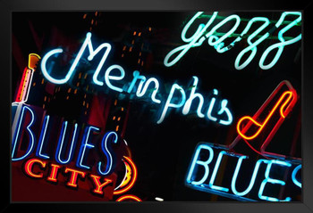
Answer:
[[[29,133],[29,136],[30,136],[30,141],[29,141],[29,147],[28,147],[28,150],[27,152],[21,156],[20,158],[15,158],[15,150],[16,150],[16,145],[18,143],[18,140],[21,136],[21,123],[22,121],[25,119],[24,115],[26,115],[25,111],[30,111],[30,124],[26,127],[26,130],[27,132]],[[25,159],[26,157],[28,157],[30,155],[30,153],[32,152],[33,150],[33,147],[34,147],[34,144],[35,144],[35,137],[34,137],[34,134],[32,132],[32,130],[30,129],[30,127],[32,126],[33,122],[34,122],[34,119],[35,119],[35,114],[34,112],[30,109],[30,107],[28,106],[23,106],[22,107],[22,110],[21,110],[21,116],[18,120],[18,127],[17,129],[15,130],[15,134],[13,136],[13,148],[12,148],[12,160],[13,161],[16,161],[16,160],[23,160]]]

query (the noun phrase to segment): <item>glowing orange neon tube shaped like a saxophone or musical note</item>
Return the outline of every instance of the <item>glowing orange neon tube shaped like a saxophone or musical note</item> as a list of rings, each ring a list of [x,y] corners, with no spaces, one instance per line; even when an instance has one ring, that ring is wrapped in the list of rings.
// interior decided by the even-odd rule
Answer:
[[[283,98],[284,98],[286,95],[288,95],[288,98],[283,102]],[[276,102],[276,104],[275,104],[274,108],[272,109],[272,111],[269,112],[269,114],[267,115],[267,117],[266,117],[266,119],[263,121],[263,123],[259,123],[259,122],[256,121],[255,119],[252,119],[250,116],[244,116],[244,117],[242,117],[242,118],[238,121],[238,123],[237,123],[237,132],[238,132],[238,134],[241,135],[241,137],[243,137],[243,138],[246,139],[246,140],[251,140],[251,139],[256,138],[256,137],[259,135],[259,133],[262,131],[262,129],[263,129],[264,127],[266,127],[267,121],[268,121],[269,119],[271,119],[271,117],[273,116],[274,112],[275,112],[276,109],[278,108],[279,104],[281,104],[281,102],[283,102],[283,105],[280,107],[279,112],[280,112],[280,115],[281,115],[281,117],[282,117],[283,119],[286,117],[286,115],[283,113],[283,110],[284,110],[286,104],[292,99],[292,97],[295,98],[295,96],[296,96],[296,95],[293,94],[292,91],[286,91],[286,92],[284,92],[284,93],[282,94],[282,96],[279,98],[278,102]],[[288,114],[288,112],[287,112],[286,114]],[[243,133],[241,132],[241,129],[240,129],[240,127],[241,127],[241,122],[242,122],[243,120],[247,120],[247,119],[249,120],[249,122],[251,121],[253,124],[255,124],[256,126],[258,126],[258,131],[257,131],[254,135],[251,135],[251,136],[244,135],[244,134],[247,132],[247,130],[248,130],[247,128],[245,129],[245,131],[244,131]],[[249,123],[249,122],[248,122],[248,123]]]

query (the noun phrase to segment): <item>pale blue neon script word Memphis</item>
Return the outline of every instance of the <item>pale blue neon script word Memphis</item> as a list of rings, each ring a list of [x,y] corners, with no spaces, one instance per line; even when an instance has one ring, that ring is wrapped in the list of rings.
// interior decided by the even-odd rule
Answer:
[[[230,125],[233,122],[233,115],[232,112],[228,109],[228,101],[226,99],[223,99],[221,101],[216,101],[217,100],[217,95],[218,95],[218,90],[214,89],[213,94],[210,97],[210,101],[208,101],[207,105],[208,108],[207,110],[203,109],[204,105],[204,97],[202,94],[199,94],[196,92],[199,78],[196,76],[192,77],[192,88],[190,89],[190,93],[187,94],[185,90],[182,88],[182,86],[178,84],[173,84],[171,87],[170,93],[167,95],[167,98],[160,98],[162,97],[161,94],[157,94],[159,92],[159,82],[157,78],[146,78],[143,75],[140,75],[140,72],[138,70],[133,71],[132,73],[132,80],[131,82],[128,82],[125,84],[125,86],[117,85],[118,83],[121,83],[123,78],[125,77],[125,71],[123,70],[123,67],[121,67],[118,64],[114,64],[109,66],[106,69],[106,72],[104,74],[104,82],[99,81],[99,73],[100,70],[103,68],[105,61],[108,57],[108,54],[111,51],[111,45],[108,43],[103,43],[97,47],[97,49],[94,49],[92,42],[91,42],[91,33],[88,32],[86,35],[86,39],[83,42],[83,44],[80,47],[80,51],[77,53],[74,61],[72,62],[72,66],[70,70],[67,72],[65,77],[63,78],[54,78],[52,76],[52,69],[47,69],[47,61],[51,60],[50,58],[52,56],[57,56],[59,53],[63,53],[62,48],[57,48],[54,50],[51,50],[48,52],[41,61],[41,70],[45,78],[47,78],[48,81],[54,84],[65,84],[67,83],[70,78],[72,77],[73,73],[75,72],[77,66],[79,65],[80,59],[85,52],[85,50],[89,50],[89,56],[88,60],[92,61],[94,57],[99,53],[102,49],[104,50],[104,53],[101,57],[101,60],[97,64],[97,69],[95,70],[92,81],[94,84],[97,86],[104,86],[104,82],[106,83],[106,86],[109,87],[110,89],[119,92],[119,93],[128,93],[131,94],[131,92],[134,89],[137,89],[136,91],[136,96],[137,97],[142,97],[144,94],[147,94],[148,87],[154,86],[153,92],[150,95],[151,101],[157,104],[161,104],[162,107],[160,108],[160,113],[159,113],[159,118],[157,119],[157,124],[160,124],[163,122],[165,119],[166,114],[168,114],[168,111],[171,109],[182,109],[182,114],[187,115],[190,113],[190,108],[194,100],[196,102],[199,102],[198,108],[197,108],[197,115],[199,118],[207,118],[209,120],[212,120],[214,122],[217,122],[221,125]],[[118,74],[112,74],[113,70],[117,70]],[[114,83],[115,82],[115,83]],[[136,87],[136,83],[138,86]],[[125,89],[125,87],[127,87]],[[196,103],[194,103],[196,104]],[[204,113],[204,111],[206,111]]]

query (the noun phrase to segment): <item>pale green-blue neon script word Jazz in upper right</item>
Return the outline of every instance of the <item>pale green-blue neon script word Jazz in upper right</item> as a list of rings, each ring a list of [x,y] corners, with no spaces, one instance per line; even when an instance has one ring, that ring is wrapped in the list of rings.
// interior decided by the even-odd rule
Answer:
[[[202,45],[203,42],[207,39],[207,44],[214,46],[217,53],[224,53],[228,50],[230,50],[236,43],[240,42],[242,37],[247,35],[249,31],[251,31],[251,26],[254,25],[255,22],[260,22],[261,26],[258,27],[255,31],[250,33],[250,36],[247,38],[248,46],[244,48],[241,53],[237,55],[237,58],[234,62],[234,67],[237,70],[242,70],[245,67],[247,67],[250,64],[250,61],[253,60],[254,56],[257,53],[257,46],[263,42],[266,38],[270,36],[269,32],[266,32],[262,35],[262,31],[266,29],[266,27],[270,24],[270,21],[265,17],[255,17],[251,20],[249,20],[247,26],[243,31],[241,32],[241,35],[239,37],[236,37],[233,42],[229,45],[224,44],[224,40],[227,37],[230,37],[233,32],[238,28],[241,22],[241,18],[238,15],[230,15],[224,20],[220,21],[215,27],[213,27],[211,30],[207,30],[211,24],[216,20],[216,16],[218,12],[213,12],[211,15],[211,18],[207,20],[206,24],[199,24],[198,29],[191,37],[186,37],[187,31],[190,29],[190,25],[197,19],[200,19],[203,12],[197,12],[190,21],[186,24],[186,26],[182,29],[182,41],[187,43],[186,45],[181,45],[173,49],[170,53],[168,53],[165,56],[165,66],[171,67],[173,66],[177,61],[180,61],[182,57],[190,50],[192,47],[197,47],[199,45]],[[278,32],[278,40],[279,43],[276,43],[274,45],[270,45],[266,48],[264,53],[262,54],[258,65],[262,70],[268,70],[271,69],[275,63],[279,60],[281,54],[283,53],[283,48],[286,45],[292,45],[295,42],[300,41],[301,34],[297,37],[294,37],[292,39],[289,39],[288,41],[285,40],[283,37],[283,34],[288,31],[289,29],[292,29],[292,27],[296,26],[301,21],[301,12],[283,12],[280,19],[275,23],[275,29],[278,29],[282,26],[283,21],[285,20],[285,17],[288,15],[298,16],[296,20],[292,20],[289,24],[287,24],[283,29],[281,29]],[[216,30],[220,29],[224,26],[224,24],[228,23],[229,21],[235,21],[233,24],[233,28],[230,29],[227,33],[224,33],[222,37],[217,37]],[[254,39],[255,37],[258,37],[258,39]],[[254,39],[254,41],[251,41]],[[275,53],[274,58],[272,61],[268,58],[269,53]],[[248,53],[248,55],[245,55]],[[242,59],[243,58],[243,59]],[[266,60],[267,59],[267,60]],[[270,61],[266,64],[265,61]]]

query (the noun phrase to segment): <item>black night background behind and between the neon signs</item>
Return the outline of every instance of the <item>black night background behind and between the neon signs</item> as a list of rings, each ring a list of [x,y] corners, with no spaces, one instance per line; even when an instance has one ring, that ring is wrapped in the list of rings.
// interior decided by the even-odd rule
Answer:
[[[245,19],[264,16],[269,20],[278,20],[281,15],[281,12],[221,12],[219,15],[228,16],[233,13]],[[159,106],[149,101],[149,98],[130,99],[129,94],[123,96],[92,85],[91,89],[86,90],[91,78],[87,77],[85,81],[77,78],[80,70],[84,76],[84,69],[90,69],[89,64],[75,72],[72,85],[55,86],[52,93],[47,93],[49,85],[46,80],[42,83],[43,76],[38,68],[33,80],[36,85],[31,87],[28,103],[43,107],[47,114],[88,123],[89,112],[95,104],[94,96],[98,100],[110,100],[111,110],[106,114],[104,131],[116,130],[119,126],[118,134],[123,135],[129,143],[132,158],[139,171],[131,193],[138,195],[143,201],[154,201],[155,197],[161,197],[165,201],[233,201],[201,193],[184,185],[196,144],[232,143],[237,135],[237,120],[244,115],[252,116],[258,111],[282,80],[289,80],[300,95],[300,42],[285,46],[279,61],[270,70],[261,70],[258,61],[266,47],[277,42],[275,39],[266,39],[258,45],[258,53],[244,70],[235,70],[233,63],[237,54],[248,45],[246,39],[242,39],[226,53],[216,53],[214,47],[204,42],[203,45],[190,49],[173,67],[166,68],[163,63],[165,55],[182,45],[182,28],[193,14],[194,12],[13,12],[13,95],[20,84],[29,53],[43,56],[47,51],[62,46],[71,58],[79,50],[88,31],[92,32],[94,47],[104,42],[112,45],[113,50],[106,64],[120,64],[125,70],[125,82],[131,81],[133,70],[140,70],[147,78],[159,79],[160,94],[166,97],[173,83],[187,88],[192,76],[197,76],[197,92],[203,94],[205,102],[210,100],[214,88],[218,89],[220,98],[229,101],[233,112],[231,126],[220,126],[208,119],[199,119],[195,113],[185,116],[182,111],[168,112],[163,123],[157,124]],[[235,33],[240,34],[246,23],[247,21],[241,21]],[[195,24],[195,27],[198,25]],[[273,24],[266,30],[271,27]],[[227,28],[229,26],[225,25],[225,29]],[[274,37],[277,32],[278,30],[274,32]],[[296,37],[299,33],[300,28],[297,27],[294,31],[288,31],[286,36]],[[232,39],[234,38],[230,38],[230,41]],[[77,86],[77,82],[81,84]],[[78,89],[77,94],[73,94],[74,89]],[[114,100],[118,102],[114,104]],[[123,124],[118,123],[117,117],[122,118],[119,122]],[[126,117],[127,123],[123,122]],[[268,146],[270,152],[288,156],[292,153],[292,157],[301,157],[301,135],[300,128],[297,128],[300,125],[299,118],[300,101]],[[293,149],[292,143],[296,144]],[[244,144],[236,151],[253,153]]]

